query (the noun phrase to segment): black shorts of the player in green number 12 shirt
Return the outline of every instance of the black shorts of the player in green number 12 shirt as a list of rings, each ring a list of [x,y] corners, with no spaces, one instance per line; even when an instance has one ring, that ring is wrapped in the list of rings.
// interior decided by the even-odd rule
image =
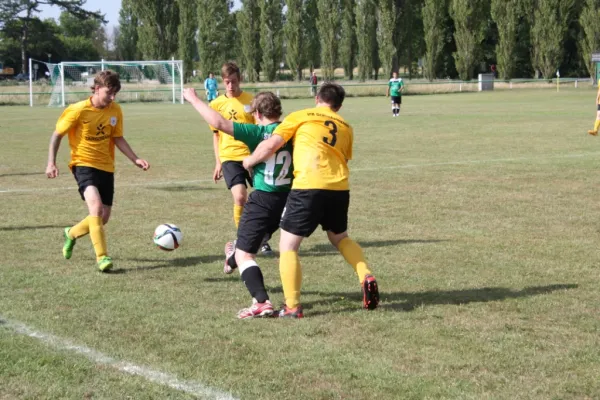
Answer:
[[[250,254],[258,253],[263,238],[279,228],[288,194],[261,190],[250,193],[240,218],[236,248]]]

